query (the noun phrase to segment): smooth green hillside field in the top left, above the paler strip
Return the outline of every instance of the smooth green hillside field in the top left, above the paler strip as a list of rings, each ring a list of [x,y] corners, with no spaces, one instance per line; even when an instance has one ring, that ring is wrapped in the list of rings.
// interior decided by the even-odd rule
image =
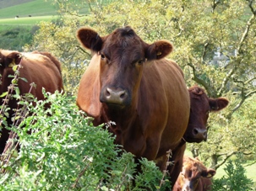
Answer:
[[[14,18],[19,15],[19,18],[44,15],[56,15],[56,8],[51,2],[45,0],[34,0],[27,3],[16,4],[7,8],[0,8],[0,19]]]

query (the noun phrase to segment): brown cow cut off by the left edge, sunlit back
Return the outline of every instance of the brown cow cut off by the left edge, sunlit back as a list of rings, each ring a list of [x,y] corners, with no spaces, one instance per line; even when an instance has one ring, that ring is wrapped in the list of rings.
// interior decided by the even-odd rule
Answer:
[[[56,90],[63,90],[63,79],[61,74],[61,63],[47,52],[32,52],[19,53],[14,50],[0,50],[0,95],[8,91],[8,86],[12,82],[14,75],[13,66],[21,65],[19,69],[19,77],[26,79],[18,81],[20,95],[30,92],[30,83],[35,82],[36,88],[32,88],[31,94],[37,100],[44,99],[42,88],[46,92],[54,93]],[[0,103],[3,103],[3,98],[0,98]],[[14,114],[13,109],[17,108],[17,100],[11,98],[8,102],[9,117],[7,119],[8,125],[11,125],[11,117]],[[4,146],[8,140],[9,131],[2,129],[0,138],[0,153],[3,153]]]

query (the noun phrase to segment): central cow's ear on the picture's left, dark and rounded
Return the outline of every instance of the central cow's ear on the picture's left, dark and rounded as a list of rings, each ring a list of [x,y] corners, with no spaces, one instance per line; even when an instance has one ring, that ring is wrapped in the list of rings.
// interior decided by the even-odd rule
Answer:
[[[93,29],[81,28],[77,31],[77,38],[81,45],[92,51],[100,51],[103,41]]]

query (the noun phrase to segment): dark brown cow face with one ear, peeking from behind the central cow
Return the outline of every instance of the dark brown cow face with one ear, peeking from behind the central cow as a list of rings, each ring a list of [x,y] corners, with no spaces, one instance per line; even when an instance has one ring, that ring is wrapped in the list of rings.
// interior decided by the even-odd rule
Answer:
[[[211,111],[226,108],[229,101],[226,98],[208,98],[202,88],[193,86],[188,89],[190,96],[190,115],[188,128],[183,138],[188,142],[207,140],[207,119]]]

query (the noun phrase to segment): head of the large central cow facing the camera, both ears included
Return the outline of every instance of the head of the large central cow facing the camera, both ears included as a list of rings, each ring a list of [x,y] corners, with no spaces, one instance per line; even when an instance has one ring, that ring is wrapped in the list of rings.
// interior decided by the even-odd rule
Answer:
[[[118,109],[133,103],[144,65],[172,51],[168,41],[147,44],[128,26],[104,37],[92,29],[82,28],[77,37],[85,48],[101,57],[101,103]]]

